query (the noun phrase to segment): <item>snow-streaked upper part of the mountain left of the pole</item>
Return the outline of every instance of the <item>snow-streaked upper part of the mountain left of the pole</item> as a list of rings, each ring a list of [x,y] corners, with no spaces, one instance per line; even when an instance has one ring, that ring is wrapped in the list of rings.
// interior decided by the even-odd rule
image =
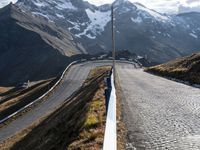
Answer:
[[[31,10],[33,14],[40,15],[58,25],[66,26],[77,37],[87,36],[95,39],[105,25],[110,21],[110,12],[99,10],[82,0],[19,0],[22,8]]]

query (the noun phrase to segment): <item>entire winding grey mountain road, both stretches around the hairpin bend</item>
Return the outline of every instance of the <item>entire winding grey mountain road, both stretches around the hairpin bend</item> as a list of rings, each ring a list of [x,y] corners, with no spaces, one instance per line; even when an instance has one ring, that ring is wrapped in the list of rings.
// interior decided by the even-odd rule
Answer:
[[[0,142],[59,107],[85,81],[90,70],[111,62],[76,64],[52,96],[8,126],[0,129]],[[127,150],[199,150],[200,90],[117,63],[122,90]]]

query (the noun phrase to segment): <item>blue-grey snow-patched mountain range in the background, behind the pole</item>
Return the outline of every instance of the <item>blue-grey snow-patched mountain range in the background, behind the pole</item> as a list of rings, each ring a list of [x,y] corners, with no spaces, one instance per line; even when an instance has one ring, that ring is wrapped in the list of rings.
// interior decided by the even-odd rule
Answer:
[[[19,0],[17,5],[70,31],[91,54],[111,49],[109,4],[96,7],[83,0]],[[116,0],[114,6],[117,50],[166,62],[200,47],[200,13],[161,14],[128,0]]]

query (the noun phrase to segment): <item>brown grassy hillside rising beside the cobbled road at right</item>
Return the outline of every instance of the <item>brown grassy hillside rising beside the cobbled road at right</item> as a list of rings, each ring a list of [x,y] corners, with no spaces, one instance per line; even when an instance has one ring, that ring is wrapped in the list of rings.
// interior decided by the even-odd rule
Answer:
[[[190,84],[200,84],[200,53],[150,67],[145,71],[188,81]]]

